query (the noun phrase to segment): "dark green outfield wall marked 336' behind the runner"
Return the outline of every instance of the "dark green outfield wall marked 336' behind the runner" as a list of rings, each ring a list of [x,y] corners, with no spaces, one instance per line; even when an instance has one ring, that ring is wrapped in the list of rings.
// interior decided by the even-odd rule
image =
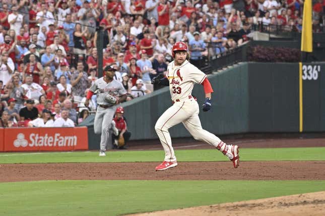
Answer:
[[[220,135],[323,132],[324,69],[323,62],[302,64],[302,97],[299,94],[298,63],[246,62],[211,75],[213,106],[207,113],[200,112],[202,126]],[[193,95],[198,97],[201,105],[204,101],[203,87],[196,85]],[[123,103],[131,139],[156,139],[155,123],[171,104],[168,87]],[[190,136],[181,124],[170,129],[170,133],[175,138]]]

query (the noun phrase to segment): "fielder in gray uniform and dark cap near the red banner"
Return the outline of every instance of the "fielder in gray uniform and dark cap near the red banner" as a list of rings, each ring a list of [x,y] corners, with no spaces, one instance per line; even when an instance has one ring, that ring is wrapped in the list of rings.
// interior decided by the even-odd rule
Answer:
[[[113,79],[116,68],[112,65],[104,68],[104,76],[97,79],[90,87],[85,105],[89,105],[91,96],[97,91],[97,111],[94,121],[95,134],[100,134],[100,152],[99,156],[106,156],[106,145],[108,142],[108,131],[112,128],[112,121],[115,114],[115,104],[124,101],[126,90],[122,83]],[[119,97],[117,99],[116,97]]]

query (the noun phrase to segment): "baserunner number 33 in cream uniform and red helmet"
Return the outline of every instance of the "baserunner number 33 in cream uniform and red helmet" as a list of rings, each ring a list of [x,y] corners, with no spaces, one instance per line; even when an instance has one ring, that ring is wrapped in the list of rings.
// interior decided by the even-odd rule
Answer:
[[[194,139],[205,141],[216,147],[233,162],[234,168],[237,168],[239,147],[226,145],[214,134],[203,130],[201,126],[199,104],[191,93],[195,83],[202,84],[206,94],[203,111],[210,110],[213,89],[207,75],[187,61],[189,55],[185,43],[176,42],[172,48],[172,56],[174,61],[168,64],[166,76],[158,75],[152,79],[153,84],[169,85],[173,101],[173,105],[163,113],[155,125],[155,130],[165,150],[165,160],[156,167],[156,171],[177,166],[168,129],[179,123],[183,123]]]

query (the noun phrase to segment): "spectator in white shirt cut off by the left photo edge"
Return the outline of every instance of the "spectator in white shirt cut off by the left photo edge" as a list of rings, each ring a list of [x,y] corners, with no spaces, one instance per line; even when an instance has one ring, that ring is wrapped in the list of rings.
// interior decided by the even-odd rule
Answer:
[[[3,51],[0,61],[0,80],[5,85],[10,81],[13,72],[15,70],[15,64],[13,60],[8,56],[8,53]]]

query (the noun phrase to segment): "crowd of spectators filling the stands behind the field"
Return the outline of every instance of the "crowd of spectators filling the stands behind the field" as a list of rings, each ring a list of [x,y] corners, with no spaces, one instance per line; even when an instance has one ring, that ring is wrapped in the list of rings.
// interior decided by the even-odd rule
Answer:
[[[325,0],[313,2],[313,31],[322,31]],[[187,43],[190,61],[244,44],[252,31],[300,32],[303,0],[0,0],[0,127],[72,127],[96,110],[83,102],[103,66],[113,65],[127,99],[159,86],[172,45]],[[50,125],[50,126],[49,126]]]

